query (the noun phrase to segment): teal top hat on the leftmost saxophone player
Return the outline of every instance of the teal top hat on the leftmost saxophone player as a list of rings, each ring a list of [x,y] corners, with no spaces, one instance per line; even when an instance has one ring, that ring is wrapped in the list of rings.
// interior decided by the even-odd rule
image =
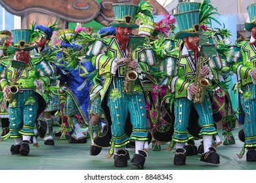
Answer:
[[[11,31],[13,42],[10,46],[12,51],[15,50],[25,50],[30,51],[35,48],[35,46],[30,46],[30,29],[14,29]]]

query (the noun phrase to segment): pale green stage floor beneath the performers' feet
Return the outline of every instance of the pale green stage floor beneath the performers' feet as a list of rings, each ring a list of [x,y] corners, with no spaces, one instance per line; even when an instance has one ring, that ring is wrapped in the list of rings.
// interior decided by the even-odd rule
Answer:
[[[55,127],[57,129],[57,127]],[[56,130],[55,129],[55,130]],[[186,158],[186,165],[173,165],[174,152],[167,152],[168,144],[161,144],[161,151],[153,152],[148,150],[148,158],[144,170],[255,170],[256,162],[247,162],[245,155],[239,159],[236,154],[242,150],[243,143],[238,139],[238,131],[242,125],[234,130],[236,144],[217,146],[221,163],[211,165],[200,161],[200,156],[189,156]],[[221,129],[219,134],[224,141]],[[89,155],[88,141],[86,144],[69,144],[68,140],[61,140],[54,137],[55,146],[45,146],[43,140],[37,138],[39,148],[30,145],[28,156],[12,155],[10,152],[13,139],[0,142],[0,169],[1,170],[137,170],[128,162],[128,167],[114,167],[114,160],[106,159],[108,148],[104,148],[98,156]],[[196,141],[200,145],[200,140]],[[134,149],[129,149],[130,157],[133,157]],[[245,152],[246,153],[246,152]]]

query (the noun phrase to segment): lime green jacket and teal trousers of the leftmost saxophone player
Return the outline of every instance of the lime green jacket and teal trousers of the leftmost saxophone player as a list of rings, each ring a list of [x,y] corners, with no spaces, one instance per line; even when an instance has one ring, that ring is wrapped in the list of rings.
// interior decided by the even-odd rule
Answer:
[[[10,80],[14,75],[11,61],[1,61],[1,88],[10,86]],[[36,90],[34,81],[35,79],[41,80],[43,85],[48,87],[49,75],[51,73],[49,73],[47,63],[36,59],[31,60],[24,69],[20,69],[16,80],[18,93],[14,94],[14,100],[9,103],[8,107],[11,137],[34,135],[35,120],[38,114],[45,109],[45,101],[47,101],[47,95],[43,94],[43,91]]]

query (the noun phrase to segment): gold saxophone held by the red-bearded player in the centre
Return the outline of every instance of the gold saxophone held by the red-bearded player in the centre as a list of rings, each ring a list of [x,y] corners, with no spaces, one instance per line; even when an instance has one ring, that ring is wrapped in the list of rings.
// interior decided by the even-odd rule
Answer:
[[[129,51],[128,55],[129,61],[133,60],[133,51]],[[124,73],[124,80],[123,80],[123,93],[131,93],[133,92],[133,86],[135,84],[135,80],[138,78],[138,74],[133,71],[131,67],[128,66],[128,63],[125,65],[125,73]]]

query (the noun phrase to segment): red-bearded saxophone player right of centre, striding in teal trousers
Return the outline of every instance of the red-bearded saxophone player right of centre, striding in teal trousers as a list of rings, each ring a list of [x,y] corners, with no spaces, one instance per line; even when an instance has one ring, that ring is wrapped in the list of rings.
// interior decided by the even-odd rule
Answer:
[[[189,5],[189,3],[179,3],[179,6]],[[174,133],[171,140],[170,148],[171,150],[176,144],[174,164],[175,165],[185,165],[186,164],[186,150],[184,149],[185,143],[194,139],[194,137],[202,137],[204,154],[200,161],[207,163],[219,164],[219,155],[216,150],[211,147],[212,138],[214,134],[217,134],[217,130],[214,127],[211,101],[209,95],[203,97],[202,103],[194,103],[193,98],[197,94],[200,88],[196,85],[196,71],[198,61],[200,58],[200,32],[199,32],[199,18],[198,19],[188,19],[190,16],[185,16],[188,14],[193,14],[197,17],[200,8],[200,3],[198,7],[194,7],[193,11],[184,11],[181,13],[174,14],[175,19],[179,27],[183,27],[175,35],[175,39],[181,39],[182,44],[180,48],[173,52],[173,56],[167,58],[167,75],[170,78],[170,88],[174,96],[174,113],[175,113],[175,124]],[[181,10],[184,8],[180,8]],[[186,8],[185,8],[186,9]],[[185,22],[185,25],[184,25]],[[210,64],[210,62],[219,61],[218,64]],[[200,71],[200,77],[198,79],[207,78],[211,80],[213,75],[208,65],[217,65],[221,69],[221,62],[217,56],[211,59],[204,58],[202,61],[202,69]],[[189,117],[195,112],[191,112],[193,109],[198,113],[200,120],[196,121],[200,123],[202,127],[197,134],[192,134],[188,131]],[[190,146],[193,148],[192,146]]]

